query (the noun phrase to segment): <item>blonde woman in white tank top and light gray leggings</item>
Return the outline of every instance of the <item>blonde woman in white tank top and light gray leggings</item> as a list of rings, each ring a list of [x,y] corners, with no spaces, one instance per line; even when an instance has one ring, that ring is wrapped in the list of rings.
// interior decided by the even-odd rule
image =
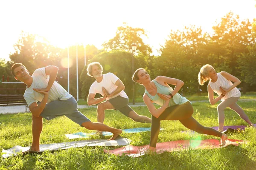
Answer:
[[[227,107],[238,113],[249,125],[252,125],[252,122],[244,113],[243,109],[236,103],[241,96],[241,93],[236,86],[239,85],[241,81],[225,71],[216,73],[215,69],[207,64],[200,69],[198,82],[200,85],[204,85],[204,82],[207,82],[208,80],[208,98],[211,105],[214,105],[221,99],[221,103],[217,106],[219,122],[218,130],[223,131],[225,119],[224,109]],[[218,94],[218,97],[215,99],[213,92]]]

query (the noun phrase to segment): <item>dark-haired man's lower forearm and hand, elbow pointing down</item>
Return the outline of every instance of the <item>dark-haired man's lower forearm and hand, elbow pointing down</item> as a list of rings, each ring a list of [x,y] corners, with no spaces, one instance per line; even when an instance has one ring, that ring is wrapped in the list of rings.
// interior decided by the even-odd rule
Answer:
[[[33,102],[31,105],[29,105],[29,110],[31,111],[32,115],[34,115],[35,117],[39,117],[47,104],[48,92],[38,91],[37,89],[35,89],[35,91],[44,94],[44,98],[39,105],[37,105],[36,102]]]

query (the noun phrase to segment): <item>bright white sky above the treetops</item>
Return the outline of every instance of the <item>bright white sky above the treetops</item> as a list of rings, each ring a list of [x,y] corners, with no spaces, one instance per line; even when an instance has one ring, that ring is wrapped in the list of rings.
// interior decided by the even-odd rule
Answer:
[[[171,30],[192,24],[211,33],[230,11],[253,21],[255,5],[256,0],[2,0],[0,59],[9,60],[21,31],[61,48],[82,43],[101,49],[124,22],[143,28],[143,41],[157,55]]]

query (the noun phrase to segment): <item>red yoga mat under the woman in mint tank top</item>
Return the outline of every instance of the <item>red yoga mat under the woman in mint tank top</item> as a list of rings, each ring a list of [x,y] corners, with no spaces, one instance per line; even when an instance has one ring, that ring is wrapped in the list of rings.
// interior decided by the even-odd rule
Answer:
[[[230,144],[238,146],[239,144],[247,143],[241,140],[235,139],[227,139],[227,142],[224,146],[226,147]],[[214,149],[220,148],[218,146],[219,140],[216,139],[206,139],[206,140],[180,140],[180,141],[172,141],[172,142],[163,142],[157,143],[157,153],[167,152],[175,152],[181,150],[195,150],[195,149]],[[105,153],[114,154],[116,156],[127,155],[130,157],[139,157],[147,154],[145,151],[148,149],[149,145],[145,146],[125,146],[114,150],[104,150]]]

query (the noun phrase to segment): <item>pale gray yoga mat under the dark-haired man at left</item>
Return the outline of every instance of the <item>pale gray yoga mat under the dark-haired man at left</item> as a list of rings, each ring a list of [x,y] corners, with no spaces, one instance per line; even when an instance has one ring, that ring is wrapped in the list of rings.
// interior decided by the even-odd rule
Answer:
[[[84,146],[125,146],[131,143],[130,139],[122,138],[118,136],[116,140],[105,140],[105,139],[93,139],[93,140],[84,140],[84,141],[74,141],[74,142],[64,142],[64,143],[53,143],[53,144],[40,144],[40,152],[46,150],[61,150],[68,149],[71,147],[84,147]],[[10,156],[15,156],[18,153],[29,153],[30,147],[21,147],[15,146],[10,149],[2,151],[2,157],[8,158]]]

